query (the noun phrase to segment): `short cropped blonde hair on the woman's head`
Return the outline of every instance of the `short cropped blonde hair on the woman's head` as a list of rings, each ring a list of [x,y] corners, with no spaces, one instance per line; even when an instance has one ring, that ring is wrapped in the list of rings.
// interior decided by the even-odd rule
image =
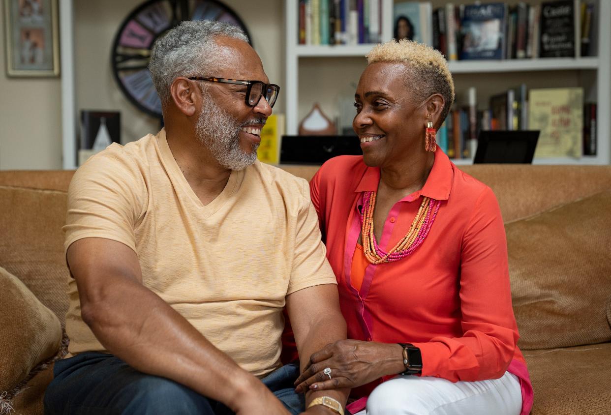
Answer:
[[[411,70],[406,74],[406,85],[414,92],[414,99],[423,101],[434,93],[444,97],[438,125],[445,120],[454,102],[454,81],[448,62],[436,49],[422,43],[402,39],[390,40],[371,49],[367,54],[367,64],[377,62],[405,63]]]

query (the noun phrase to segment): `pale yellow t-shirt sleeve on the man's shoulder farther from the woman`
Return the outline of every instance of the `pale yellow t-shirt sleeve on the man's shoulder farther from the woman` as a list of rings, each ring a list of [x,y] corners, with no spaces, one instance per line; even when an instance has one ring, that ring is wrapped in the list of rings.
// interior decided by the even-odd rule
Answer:
[[[73,176],[68,189],[64,251],[76,240],[115,240],[136,251],[134,229],[145,212],[144,179],[122,148],[93,156]]]

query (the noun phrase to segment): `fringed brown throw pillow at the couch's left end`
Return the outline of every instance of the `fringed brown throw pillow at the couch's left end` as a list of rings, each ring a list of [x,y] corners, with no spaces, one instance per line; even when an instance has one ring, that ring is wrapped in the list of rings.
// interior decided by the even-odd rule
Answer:
[[[59,319],[16,276],[0,267],[0,393],[12,390],[38,363],[56,355]]]

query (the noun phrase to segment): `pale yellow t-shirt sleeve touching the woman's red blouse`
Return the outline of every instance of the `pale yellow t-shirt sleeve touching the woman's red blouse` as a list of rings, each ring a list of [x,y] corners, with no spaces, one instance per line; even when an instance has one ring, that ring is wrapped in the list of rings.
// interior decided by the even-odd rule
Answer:
[[[297,218],[293,269],[288,283],[288,294],[321,284],[337,284],[326,258],[321,240],[318,215],[310,201],[307,181],[301,182],[301,206]]]

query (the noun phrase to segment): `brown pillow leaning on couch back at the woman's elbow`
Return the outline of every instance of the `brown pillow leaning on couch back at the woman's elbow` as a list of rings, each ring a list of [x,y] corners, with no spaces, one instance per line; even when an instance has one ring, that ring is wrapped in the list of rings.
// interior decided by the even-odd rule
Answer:
[[[611,340],[611,191],[506,225],[523,350]]]

